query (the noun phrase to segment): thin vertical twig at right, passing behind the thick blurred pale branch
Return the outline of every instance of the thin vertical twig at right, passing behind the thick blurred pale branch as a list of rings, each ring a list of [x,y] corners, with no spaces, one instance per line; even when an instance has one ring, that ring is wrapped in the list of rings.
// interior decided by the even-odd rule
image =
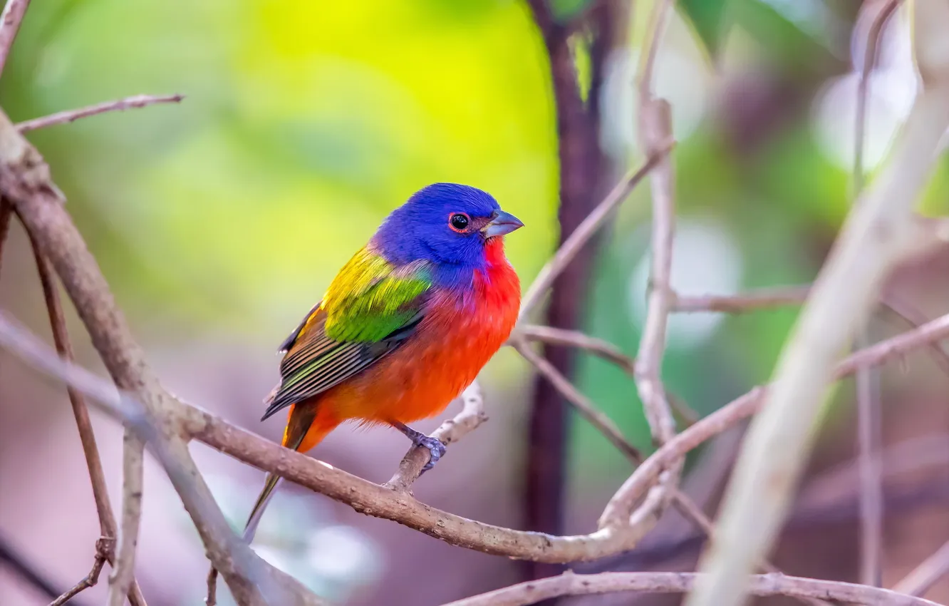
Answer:
[[[866,101],[869,94],[870,73],[876,59],[877,47],[884,24],[896,10],[897,0],[889,0],[874,18],[866,37],[864,64],[857,84],[857,110],[854,125],[853,197],[864,189],[864,146],[866,131]],[[857,349],[870,343],[868,326],[857,334]],[[884,483],[880,450],[883,442],[883,409],[880,402],[879,377],[874,369],[858,369],[857,396],[857,450],[860,464],[860,579],[865,585],[883,586],[883,524]]]

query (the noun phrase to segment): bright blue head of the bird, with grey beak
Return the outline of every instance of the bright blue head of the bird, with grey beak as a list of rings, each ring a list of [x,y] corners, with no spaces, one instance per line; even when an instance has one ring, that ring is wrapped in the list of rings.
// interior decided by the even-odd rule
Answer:
[[[484,268],[489,243],[523,225],[487,192],[434,183],[392,211],[372,243],[397,265],[424,260],[445,270],[471,271]]]

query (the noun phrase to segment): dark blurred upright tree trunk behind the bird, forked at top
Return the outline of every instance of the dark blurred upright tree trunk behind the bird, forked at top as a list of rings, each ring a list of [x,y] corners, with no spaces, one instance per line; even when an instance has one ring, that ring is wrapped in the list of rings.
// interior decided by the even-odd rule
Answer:
[[[544,0],[530,0],[534,20],[548,49],[556,103],[560,160],[559,244],[563,244],[599,201],[599,195],[605,189],[604,177],[612,172],[608,170],[609,162],[599,145],[599,94],[605,56],[615,40],[612,24],[622,22],[623,30],[626,24],[624,11],[619,20],[615,19],[619,15],[611,14],[617,4],[596,3],[583,16],[593,36],[590,46],[593,77],[584,103],[568,44],[569,26],[553,21]],[[568,330],[580,328],[597,248],[594,239],[553,283],[547,325]],[[554,368],[572,376],[573,350],[546,346],[543,354]],[[567,431],[567,403],[548,381],[537,376],[530,407],[527,478],[524,483],[525,522],[532,531],[563,534]],[[561,571],[562,567],[558,565],[527,562],[525,577],[543,578]]]

